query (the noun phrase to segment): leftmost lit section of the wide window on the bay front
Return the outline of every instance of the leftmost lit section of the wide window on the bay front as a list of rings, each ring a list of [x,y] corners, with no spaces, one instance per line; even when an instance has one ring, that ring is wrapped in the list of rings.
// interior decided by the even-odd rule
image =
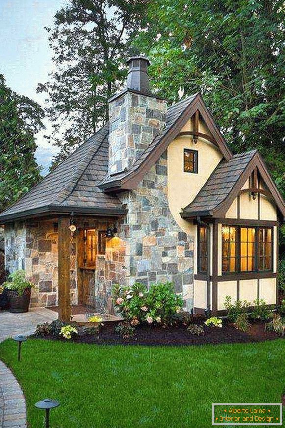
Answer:
[[[236,272],[237,228],[222,226],[222,272]]]

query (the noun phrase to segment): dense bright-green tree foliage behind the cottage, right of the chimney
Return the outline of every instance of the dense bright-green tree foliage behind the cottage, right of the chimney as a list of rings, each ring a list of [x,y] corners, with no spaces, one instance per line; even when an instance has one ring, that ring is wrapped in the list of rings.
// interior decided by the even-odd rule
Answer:
[[[158,93],[200,91],[233,152],[258,148],[285,195],[281,0],[156,0],[135,45]]]

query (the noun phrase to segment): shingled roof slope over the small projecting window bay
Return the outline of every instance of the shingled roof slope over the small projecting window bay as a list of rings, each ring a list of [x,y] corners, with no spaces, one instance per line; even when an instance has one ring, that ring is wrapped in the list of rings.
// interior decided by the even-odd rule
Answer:
[[[183,208],[181,215],[211,215],[231,193],[241,174],[257,150],[234,155],[229,161],[221,160],[194,200]]]

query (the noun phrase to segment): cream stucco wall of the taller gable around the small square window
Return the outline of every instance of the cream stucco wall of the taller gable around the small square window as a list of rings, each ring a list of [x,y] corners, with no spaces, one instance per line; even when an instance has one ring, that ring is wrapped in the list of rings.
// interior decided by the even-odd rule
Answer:
[[[191,131],[192,123],[189,120],[181,131]],[[205,124],[199,122],[199,131],[210,134]],[[184,172],[183,150],[198,151],[198,174]],[[197,144],[193,143],[192,136],[177,137],[168,146],[168,201],[171,214],[181,229],[187,233],[193,233],[191,223],[181,218],[181,209],[193,201],[199,190],[206,183],[214,171],[222,154],[212,143],[199,138]]]

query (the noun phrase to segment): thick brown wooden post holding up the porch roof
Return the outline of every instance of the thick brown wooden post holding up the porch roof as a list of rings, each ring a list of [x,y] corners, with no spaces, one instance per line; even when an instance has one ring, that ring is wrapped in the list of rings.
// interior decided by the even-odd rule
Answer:
[[[70,321],[70,218],[58,219],[58,306],[59,319]]]

